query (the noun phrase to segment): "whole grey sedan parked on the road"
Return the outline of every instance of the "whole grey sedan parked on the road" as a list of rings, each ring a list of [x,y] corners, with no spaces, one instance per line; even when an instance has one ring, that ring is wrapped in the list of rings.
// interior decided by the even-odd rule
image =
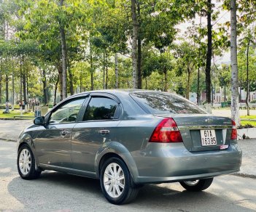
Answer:
[[[239,171],[236,123],[160,91],[88,91],[37,117],[18,139],[18,172],[44,170],[100,179],[110,203],[133,200],[143,184],[180,182],[201,191]]]

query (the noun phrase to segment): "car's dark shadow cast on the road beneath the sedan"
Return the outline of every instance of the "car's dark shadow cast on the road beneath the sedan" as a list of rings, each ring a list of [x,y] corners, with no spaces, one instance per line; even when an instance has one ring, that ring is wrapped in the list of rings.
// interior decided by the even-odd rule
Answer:
[[[249,211],[232,200],[210,192],[187,192],[179,184],[148,184],[127,205],[108,203],[97,179],[44,171],[36,180],[16,177],[8,185],[9,193],[24,205],[24,209],[39,211]]]

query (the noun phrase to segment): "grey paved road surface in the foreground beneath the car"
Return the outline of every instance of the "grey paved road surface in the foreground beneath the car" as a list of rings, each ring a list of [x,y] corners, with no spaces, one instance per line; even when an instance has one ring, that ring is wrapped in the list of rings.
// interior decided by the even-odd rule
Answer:
[[[112,205],[95,179],[50,171],[21,179],[15,145],[0,141],[0,211],[256,211],[256,179],[233,175],[217,177],[198,193],[178,183],[147,185],[133,203]]]

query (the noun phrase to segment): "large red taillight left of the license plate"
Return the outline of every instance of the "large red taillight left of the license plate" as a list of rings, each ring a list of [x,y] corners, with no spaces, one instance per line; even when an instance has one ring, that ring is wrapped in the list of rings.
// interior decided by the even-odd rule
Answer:
[[[150,142],[183,142],[177,124],[172,118],[161,121],[150,137]]]

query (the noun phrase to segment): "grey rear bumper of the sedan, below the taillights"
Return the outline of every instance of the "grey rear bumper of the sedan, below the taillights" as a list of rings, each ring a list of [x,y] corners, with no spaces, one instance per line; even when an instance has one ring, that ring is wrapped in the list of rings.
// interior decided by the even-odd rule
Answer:
[[[240,170],[242,152],[237,144],[230,144],[227,150],[189,152],[183,143],[150,143],[132,155],[138,167],[134,182],[143,184],[232,174]]]

